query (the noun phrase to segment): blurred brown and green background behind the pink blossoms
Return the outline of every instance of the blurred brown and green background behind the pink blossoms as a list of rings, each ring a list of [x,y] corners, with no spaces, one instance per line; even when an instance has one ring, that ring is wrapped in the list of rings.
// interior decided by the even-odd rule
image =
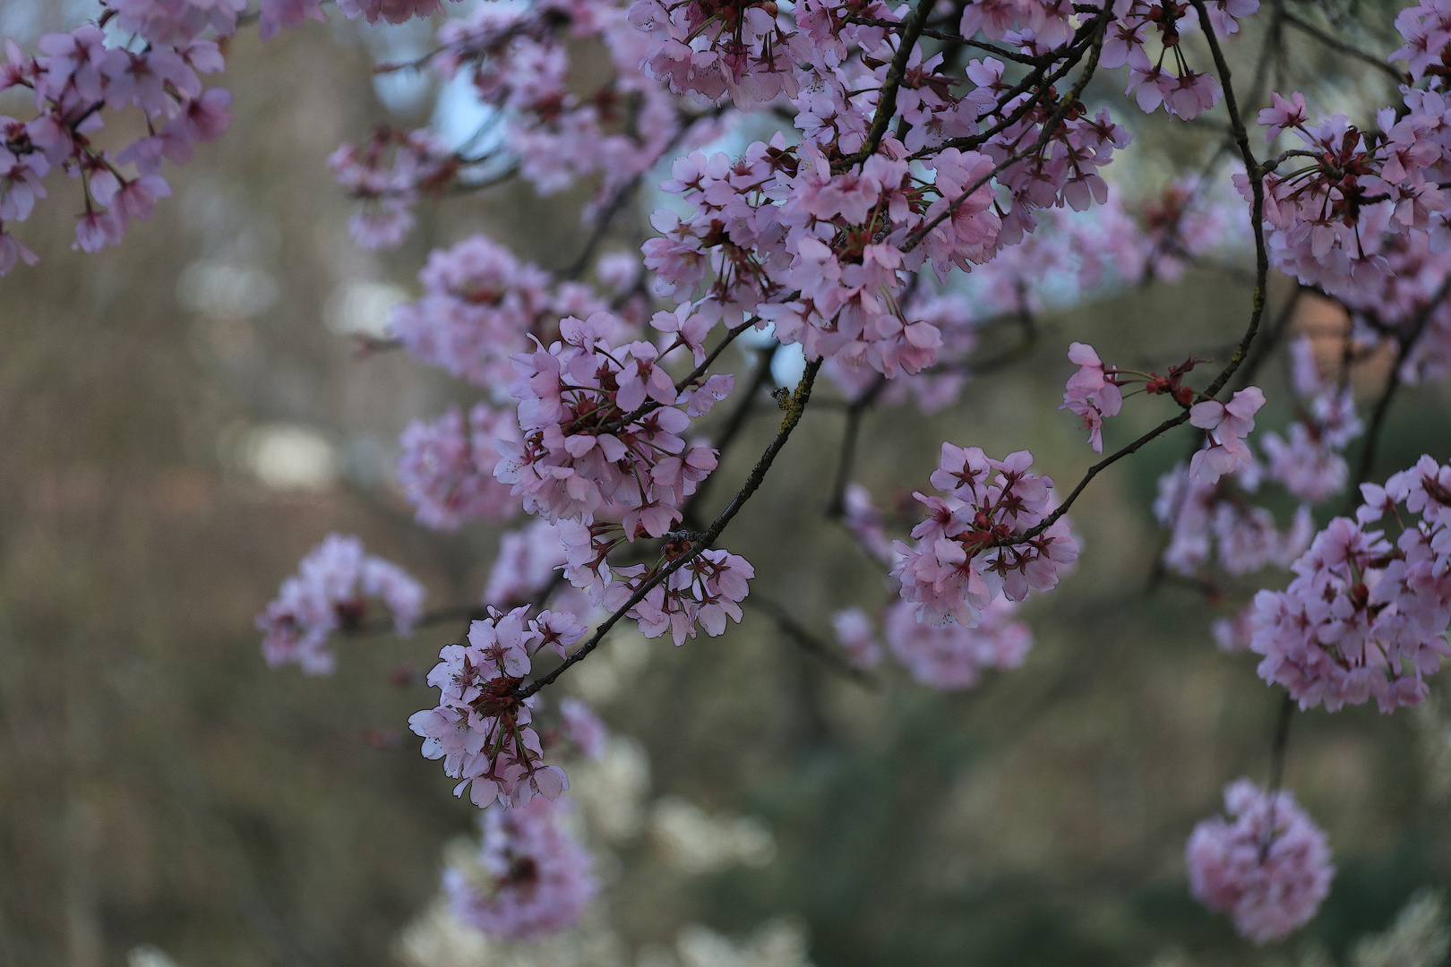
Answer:
[[[28,41],[86,13],[7,0],[0,26]],[[1380,954],[1357,938],[1451,886],[1439,683],[1418,712],[1297,716],[1286,783],[1339,867],[1307,929],[1255,951],[1190,899],[1184,839],[1228,780],[1264,781],[1280,697],[1209,635],[1252,581],[1217,605],[1152,581],[1148,506],[1187,455],[1170,438],[1096,481],[1074,515],[1077,574],[1027,609],[1027,664],[972,692],[900,673],[863,689],[757,612],[720,639],[627,636],[585,663],[569,689],[628,736],[576,773],[607,881],[598,909],[534,951],[457,937],[431,905],[474,809],[405,725],[429,703],[406,673],[456,632],[351,639],[335,677],[303,678],[263,665],[251,625],[329,531],[408,567],[432,605],[476,600],[492,561],[496,529],[425,532],[392,484],[398,431],[467,389],[398,352],[360,354],[350,333],[377,332],[428,248],[470,232],[567,264],[580,197],[505,187],[425,210],[400,252],[354,248],[325,158],[374,123],[427,120],[429,91],[371,78],[374,57],[418,38],[360,43],[344,22],[268,45],[244,32],[226,75],[237,122],[173,171],[157,217],[94,257],[68,251],[70,225],[32,223],[41,267],[0,280],[0,960],[1370,967]],[[1302,70],[1332,67],[1315,57]],[[1032,354],[952,410],[869,415],[856,477],[882,502],[907,497],[950,439],[1032,447],[1074,481],[1088,452],[1053,409],[1066,342],[1129,365],[1222,355],[1246,303],[1233,277],[1200,274],[1049,313]],[[1287,418],[1280,368],[1262,371],[1264,426]],[[1373,393],[1383,374],[1368,370]],[[1381,477],[1451,455],[1447,403],[1442,387],[1400,399]],[[1152,409],[1110,426],[1110,448]],[[746,473],[772,410],[763,399],[726,480]],[[810,410],[727,535],[757,568],[753,593],[824,638],[831,610],[885,602],[823,515],[840,432],[839,407]],[[1444,909],[1426,896],[1406,929],[1434,938]]]

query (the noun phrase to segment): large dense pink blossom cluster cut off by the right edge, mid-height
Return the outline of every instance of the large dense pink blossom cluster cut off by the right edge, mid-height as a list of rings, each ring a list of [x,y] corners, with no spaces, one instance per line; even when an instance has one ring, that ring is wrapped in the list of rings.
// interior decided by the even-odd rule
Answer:
[[[1371,697],[1381,712],[1419,705],[1425,677],[1451,657],[1451,468],[1422,457],[1384,487],[1362,484],[1361,496],[1355,519],[1315,535],[1288,587],[1255,596],[1259,677],[1302,709]],[[1402,528],[1394,544],[1368,529],[1387,513]]]

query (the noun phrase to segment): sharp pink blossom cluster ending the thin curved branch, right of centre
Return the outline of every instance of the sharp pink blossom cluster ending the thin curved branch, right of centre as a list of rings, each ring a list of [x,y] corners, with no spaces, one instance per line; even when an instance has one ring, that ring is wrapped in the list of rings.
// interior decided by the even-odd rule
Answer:
[[[1048,523],[1052,480],[1027,473],[1032,464],[1027,451],[998,461],[977,447],[942,445],[932,486],[945,496],[913,494],[927,518],[913,528],[914,547],[894,545],[892,574],[917,621],[974,628],[994,599],[1052,590],[1078,560],[1068,522]]]

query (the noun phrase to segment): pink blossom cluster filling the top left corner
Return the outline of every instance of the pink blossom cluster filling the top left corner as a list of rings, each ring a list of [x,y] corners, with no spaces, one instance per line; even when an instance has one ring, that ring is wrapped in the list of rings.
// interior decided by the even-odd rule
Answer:
[[[231,33],[242,6],[241,0],[119,0],[104,16],[135,30],[128,43],[94,23],[41,36],[41,57],[6,41],[0,91],[30,88],[36,113],[29,120],[0,116],[0,275],[19,261],[35,262],[6,223],[30,217],[54,171],[81,181],[84,213],[73,248],[94,252],[115,245],[132,222],[151,217],[157,199],[171,194],[163,164],[189,161],[193,144],[212,141],[232,119],[231,94],[202,88],[199,75],[221,71],[222,54],[200,35]],[[144,117],[145,135],[119,151],[93,141],[109,119],[132,107]]]

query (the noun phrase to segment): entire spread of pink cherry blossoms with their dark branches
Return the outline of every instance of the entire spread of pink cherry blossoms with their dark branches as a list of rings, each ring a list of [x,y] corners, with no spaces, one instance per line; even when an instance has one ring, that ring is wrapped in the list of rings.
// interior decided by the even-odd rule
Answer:
[[[338,6],[370,23],[447,10],[441,0]],[[428,257],[421,294],[389,320],[398,346],[477,389],[467,410],[418,420],[400,439],[398,478],[418,522],[533,520],[501,538],[477,605],[424,612],[416,581],[332,535],[258,625],[268,661],[321,673],[335,661],[329,635],[371,628],[374,602],[400,634],[443,615],[469,619],[467,641],[443,648],[429,673],[438,705],[411,725],[456,793],[486,808],[492,881],[454,890],[473,922],[534,937],[576,918],[593,889],[547,805],[567,776],[546,761],[541,736],[551,731],[535,715],[547,722],[553,710],[537,696],[621,622],[683,645],[701,631],[724,634],[755,600],[788,636],[853,674],[889,654],[920,683],[972,687],[1024,661],[1033,635],[1019,609],[1052,593],[1082,554],[1066,515],[1090,484],[1185,423],[1194,449],[1161,480],[1155,503],[1170,531],[1165,573],[1199,587],[1217,587],[1212,561],[1230,576],[1293,574],[1216,626],[1222,647],[1259,654],[1261,678],[1300,707],[1421,700],[1451,655],[1451,470],[1423,458],[1384,484],[1367,477],[1399,386],[1451,375],[1451,7],[1429,0],[1397,17],[1402,78],[1277,4],[1241,101],[1225,46],[1257,12],[1257,0],[974,0],[946,12],[933,0],[537,0],[443,20],[435,48],[408,67],[469,84],[490,113],[472,146],[385,128],[361,148],[341,146],[332,167],[361,202],[355,241],[374,248],[412,231],[424,197],[512,177],[540,194],[592,183],[583,245],[563,271],[473,235]],[[183,161],[225,128],[226,93],[202,91],[197,74],[221,70],[216,39],[248,16],[242,0],[106,0],[96,23],[42,38],[44,57],[7,45],[0,90],[29,88],[36,116],[3,122],[0,273],[30,261],[6,223],[30,215],[54,170],[81,181],[80,248],[112,244],[149,216],[168,190],[161,161]],[[324,6],[260,0],[255,17],[266,39],[322,19]],[[113,20],[133,35],[125,43],[103,29]],[[1280,75],[1286,26],[1405,80],[1400,104],[1374,126],[1312,122],[1303,91],[1271,91],[1255,119],[1268,142],[1259,161],[1245,112]],[[582,49],[607,68],[580,71]],[[1140,200],[1103,175],[1130,146],[1129,128],[1088,103],[1120,68],[1140,113],[1162,107],[1216,132],[1197,177]],[[1212,115],[1220,104],[1228,123]],[[94,148],[89,132],[131,107],[148,135],[115,157]],[[705,149],[746,120],[772,132],[736,155]],[[638,255],[601,255],[666,161],[659,191],[672,199],[650,216],[654,233]],[[1233,190],[1220,194],[1225,181]],[[1082,300],[1194,267],[1228,265],[1239,278],[1239,252],[1225,249],[1230,239],[1244,249],[1245,236],[1248,319],[1203,389],[1193,374],[1207,361],[1193,354],[1165,373],[1135,371],[1069,342],[1078,368],[1061,409],[1082,422],[1094,454],[1126,406],[1165,396],[1175,410],[1093,462],[1066,494],[1033,471],[1026,449],[994,458],[952,441],[930,474],[933,493],[913,493],[916,506],[904,499],[882,512],[852,480],[866,412],[940,410],[974,373],[1042,341],[1035,320],[1048,280]],[[1345,309],[1338,378],[1306,336],[1283,339],[1296,300],[1261,333],[1273,270],[1296,280],[1296,299],[1315,290]],[[1022,326],[1023,346],[982,357],[995,320]],[[731,346],[750,331],[755,371],[737,387]],[[1294,419],[1283,435],[1251,441],[1265,403],[1251,378],[1275,342],[1287,345]],[[1362,426],[1348,361],[1387,344],[1394,370],[1352,481],[1345,449]],[[724,452],[739,445],[772,364],[792,358],[802,375],[778,397],[782,423],[701,529]],[[833,615],[840,651],[784,607],[749,597],[755,567],[717,547],[818,381],[844,409],[829,513],[885,573],[889,597],[876,613]],[[702,433],[696,420],[733,394],[730,413]],[[1258,503],[1267,481],[1300,505],[1283,531]],[[1354,516],[1318,529],[1310,507],[1352,484]],[[1381,520],[1399,528],[1394,539]],[[1323,834],[1278,789],[1284,741],[1275,748],[1270,789],[1232,783],[1229,818],[1201,823],[1185,857],[1196,896],[1255,942],[1313,916],[1331,877]],[[550,902],[521,873],[543,867],[562,884]]]

